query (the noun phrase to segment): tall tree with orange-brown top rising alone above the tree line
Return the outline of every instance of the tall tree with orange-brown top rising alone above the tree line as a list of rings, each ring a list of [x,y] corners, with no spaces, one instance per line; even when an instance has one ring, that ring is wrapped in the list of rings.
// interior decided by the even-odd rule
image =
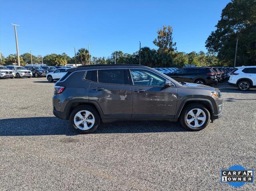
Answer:
[[[157,31],[157,38],[153,43],[159,47],[160,53],[174,52],[177,50],[176,43],[173,42],[173,28],[171,26],[163,26],[163,29]]]

